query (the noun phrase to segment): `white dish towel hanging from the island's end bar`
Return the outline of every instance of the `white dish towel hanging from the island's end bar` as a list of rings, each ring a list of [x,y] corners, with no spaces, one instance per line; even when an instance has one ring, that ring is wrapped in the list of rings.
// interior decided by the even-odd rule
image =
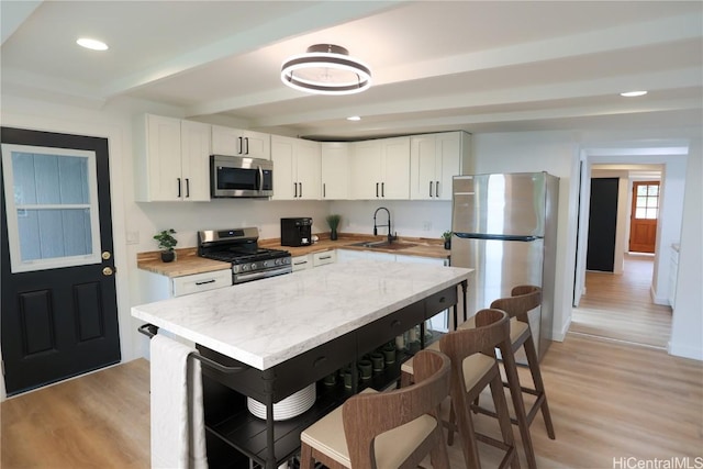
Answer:
[[[208,468],[200,361],[188,358],[197,350],[161,334],[149,343],[152,468]]]

